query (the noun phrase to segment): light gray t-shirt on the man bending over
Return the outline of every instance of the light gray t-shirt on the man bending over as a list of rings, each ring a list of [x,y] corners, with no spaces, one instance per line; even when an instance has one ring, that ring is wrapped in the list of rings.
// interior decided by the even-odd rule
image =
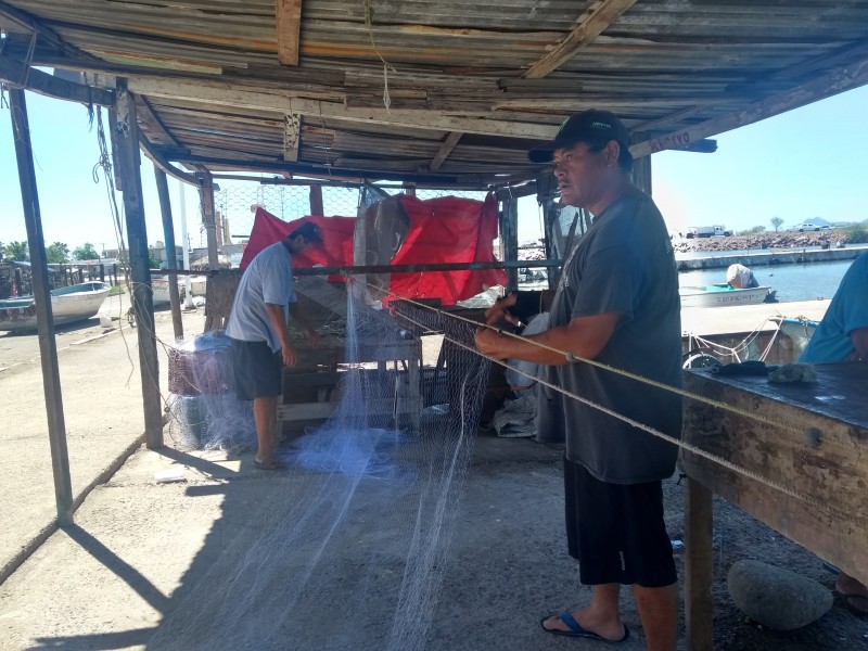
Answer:
[[[290,304],[295,303],[292,256],[283,242],[260,251],[244,270],[226,335],[242,342],[267,342],[271,350],[279,352],[280,339],[271,327],[266,303],[282,306],[284,320],[289,319]]]

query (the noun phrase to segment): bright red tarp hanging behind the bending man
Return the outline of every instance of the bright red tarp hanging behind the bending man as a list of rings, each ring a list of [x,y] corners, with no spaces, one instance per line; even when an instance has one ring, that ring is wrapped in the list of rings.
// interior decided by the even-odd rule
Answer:
[[[495,261],[492,242],[497,237],[497,201],[489,194],[484,202],[444,196],[420,201],[399,195],[410,218],[407,240],[392,259],[393,265]],[[296,268],[322,265],[353,265],[353,217],[303,217],[282,221],[263,208],[256,209],[251,239],[244,250],[244,269],[266,246],[279,242],[305,221],[312,221],[322,233],[322,246],[311,246],[293,257]],[[501,269],[482,271],[425,271],[393,273],[391,291],[405,298],[442,298],[444,305],[470,298],[496,284],[506,284]]]

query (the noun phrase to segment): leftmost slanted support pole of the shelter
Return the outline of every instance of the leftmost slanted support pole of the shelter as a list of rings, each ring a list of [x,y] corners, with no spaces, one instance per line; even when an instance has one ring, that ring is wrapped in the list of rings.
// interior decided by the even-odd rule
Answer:
[[[63,416],[58,344],[54,341],[54,319],[48,284],[46,242],[42,235],[42,216],[39,212],[39,196],[30,146],[30,125],[27,118],[24,90],[11,88],[9,104],[12,114],[12,133],[15,140],[15,157],[18,164],[21,203],[30,248],[39,357],[42,365],[42,390],[46,394],[51,470],[54,474],[54,501],[58,509],[58,524],[64,526],[73,522],[73,483],[69,474],[69,454],[66,448],[66,422]]]

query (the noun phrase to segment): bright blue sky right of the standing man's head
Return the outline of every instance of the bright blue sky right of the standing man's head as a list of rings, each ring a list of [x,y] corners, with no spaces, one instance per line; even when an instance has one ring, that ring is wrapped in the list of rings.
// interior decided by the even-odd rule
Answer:
[[[717,136],[714,154],[654,154],[653,194],[669,230],[868,218],[867,110],[863,87]]]

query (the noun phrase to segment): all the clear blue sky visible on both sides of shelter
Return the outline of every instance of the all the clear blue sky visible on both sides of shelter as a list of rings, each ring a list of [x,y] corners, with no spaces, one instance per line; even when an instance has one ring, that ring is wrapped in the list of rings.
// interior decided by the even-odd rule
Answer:
[[[47,243],[115,247],[104,178],[97,184],[97,129],[84,106],[27,93]],[[671,230],[722,224],[732,230],[813,217],[868,218],[868,88],[830,98],[716,137],[714,154],[663,152],[652,158],[654,199]],[[107,128],[107,116],[103,112]],[[164,240],[150,161],[142,157],[148,240]],[[180,243],[178,183],[169,181]],[[0,110],[0,241],[26,240],[9,108]],[[118,193],[118,202],[122,195]],[[186,192],[188,231],[200,242],[199,196]],[[533,200],[522,202],[520,241],[539,237]]]

